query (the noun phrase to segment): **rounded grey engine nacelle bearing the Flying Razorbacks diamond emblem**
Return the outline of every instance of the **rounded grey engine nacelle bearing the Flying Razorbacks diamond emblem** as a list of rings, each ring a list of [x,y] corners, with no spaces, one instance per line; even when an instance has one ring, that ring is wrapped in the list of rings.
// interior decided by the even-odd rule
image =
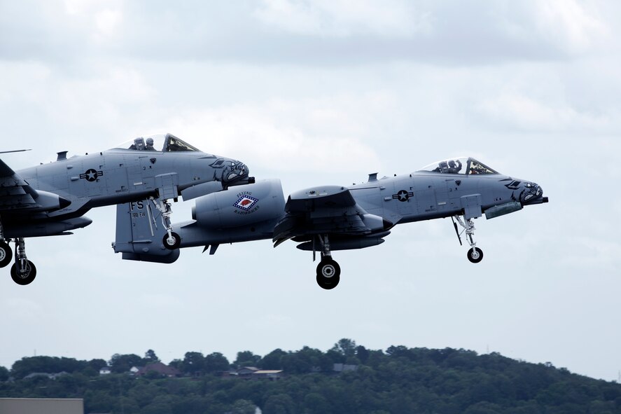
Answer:
[[[204,228],[239,228],[279,219],[284,207],[280,180],[272,179],[204,195],[196,200],[192,218]]]

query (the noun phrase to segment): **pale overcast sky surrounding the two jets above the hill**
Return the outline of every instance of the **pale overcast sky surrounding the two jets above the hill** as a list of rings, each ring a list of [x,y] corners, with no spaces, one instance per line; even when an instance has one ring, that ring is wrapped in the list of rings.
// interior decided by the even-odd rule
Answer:
[[[171,132],[285,194],[470,155],[550,198],[478,219],[478,265],[448,219],[337,251],[333,291],[293,242],[123,261],[115,207],[91,210],[27,240],[33,284],[1,270],[0,366],[351,338],[617,380],[620,20],[613,0],[0,1],[0,150],[33,149],[2,155],[14,170]]]

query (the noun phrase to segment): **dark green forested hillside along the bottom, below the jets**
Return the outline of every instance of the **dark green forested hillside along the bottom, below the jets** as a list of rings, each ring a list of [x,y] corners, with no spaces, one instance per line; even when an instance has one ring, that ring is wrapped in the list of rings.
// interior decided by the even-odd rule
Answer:
[[[144,358],[115,354],[107,362],[26,357],[10,371],[0,367],[0,397],[83,398],[87,414],[245,414],[254,413],[255,406],[264,414],[621,413],[616,382],[496,353],[404,346],[368,350],[342,339],[327,352],[309,347],[263,357],[239,352],[231,364],[218,352],[187,352],[169,364],[179,371],[172,378],[127,372],[156,361],[152,350]],[[336,372],[334,364],[347,364],[349,371]],[[284,377],[236,375],[244,366],[282,370]],[[112,373],[100,374],[106,367]]]

